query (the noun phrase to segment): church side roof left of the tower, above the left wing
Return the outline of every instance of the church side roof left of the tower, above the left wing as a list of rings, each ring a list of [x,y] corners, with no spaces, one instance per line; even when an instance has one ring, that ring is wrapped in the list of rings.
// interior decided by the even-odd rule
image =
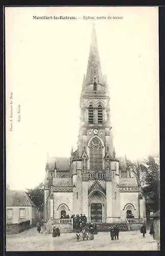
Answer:
[[[70,167],[70,157],[49,157],[48,168],[54,170],[56,162],[57,171],[68,171]]]

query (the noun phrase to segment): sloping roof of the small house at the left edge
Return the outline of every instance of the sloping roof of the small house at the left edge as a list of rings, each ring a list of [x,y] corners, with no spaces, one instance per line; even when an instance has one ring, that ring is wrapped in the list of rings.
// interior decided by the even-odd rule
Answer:
[[[6,193],[6,206],[34,206],[36,205],[28,197],[25,191],[8,190]]]

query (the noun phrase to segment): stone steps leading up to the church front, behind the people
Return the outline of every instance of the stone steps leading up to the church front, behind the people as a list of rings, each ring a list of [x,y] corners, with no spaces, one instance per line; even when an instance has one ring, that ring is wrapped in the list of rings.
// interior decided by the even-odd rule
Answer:
[[[85,229],[89,230],[89,224],[90,223],[86,223]],[[108,232],[108,231],[110,231],[110,226],[114,226],[114,225],[117,225],[119,227],[120,231],[129,231],[126,222],[121,222],[121,223],[99,223],[99,224],[97,224],[97,230],[98,230],[98,232]],[[77,231],[80,231],[80,230],[76,230],[76,229],[73,230],[73,232],[77,232]]]

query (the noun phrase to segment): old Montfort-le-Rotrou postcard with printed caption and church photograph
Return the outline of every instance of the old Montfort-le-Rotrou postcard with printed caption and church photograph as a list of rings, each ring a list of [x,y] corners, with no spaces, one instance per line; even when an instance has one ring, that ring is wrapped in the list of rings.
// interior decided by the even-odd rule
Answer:
[[[7,251],[159,250],[158,40],[158,7],[5,7]]]

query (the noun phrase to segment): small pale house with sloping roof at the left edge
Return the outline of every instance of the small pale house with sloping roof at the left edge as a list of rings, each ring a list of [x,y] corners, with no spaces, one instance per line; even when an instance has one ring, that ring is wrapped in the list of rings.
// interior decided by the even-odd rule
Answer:
[[[25,191],[7,190],[6,231],[19,233],[37,223],[38,210]]]

